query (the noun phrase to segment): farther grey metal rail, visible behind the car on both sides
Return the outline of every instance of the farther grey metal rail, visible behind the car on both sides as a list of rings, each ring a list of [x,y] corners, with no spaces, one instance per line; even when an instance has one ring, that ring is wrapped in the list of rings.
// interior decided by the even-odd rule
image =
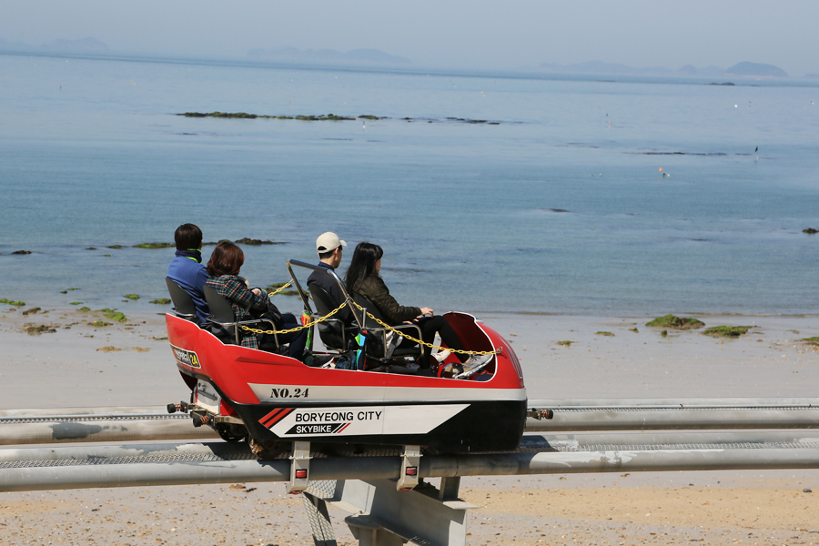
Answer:
[[[819,429],[819,399],[540,399],[530,406],[554,414],[528,419],[531,432]],[[0,410],[0,445],[215,438],[186,414],[158,407]]]

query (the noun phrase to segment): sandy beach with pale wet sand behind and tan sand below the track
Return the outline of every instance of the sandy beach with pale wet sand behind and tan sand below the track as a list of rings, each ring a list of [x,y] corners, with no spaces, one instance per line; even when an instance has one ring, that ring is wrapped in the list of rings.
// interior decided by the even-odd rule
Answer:
[[[163,311],[0,308],[0,408],[166,404],[186,397]],[[678,313],[679,314],[679,313]],[[687,316],[687,315],[686,315]],[[702,316],[739,339],[662,337],[653,317],[483,314],[510,339],[531,399],[814,397],[816,317]],[[108,326],[91,326],[102,320]],[[45,326],[30,335],[28,326]],[[637,329],[637,331],[632,331]],[[54,330],[54,331],[50,331]],[[597,332],[610,332],[613,336]],[[571,340],[570,347],[558,341]],[[436,480],[432,480],[433,483]],[[804,492],[813,490],[815,492]],[[470,544],[819,543],[819,470],[465,478]],[[281,484],[0,494],[8,544],[311,544]],[[339,544],[353,544],[333,511]]]

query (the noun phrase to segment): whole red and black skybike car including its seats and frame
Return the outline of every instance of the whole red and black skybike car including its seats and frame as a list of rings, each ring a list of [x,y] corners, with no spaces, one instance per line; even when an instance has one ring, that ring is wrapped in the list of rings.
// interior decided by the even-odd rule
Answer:
[[[331,276],[356,324],[345,328],[330,313],[335,306],[330,307],[320,287],[311,285],[308,294],[293,266]],[[314,368],[278,352],[239,346],[237,329],[248,325],[235,323],[227,301],[207,287],[212,316],[200,327],[192,301],[186,302],[184,291],[168,279],[175,308],[167,313],[167,336],[192,391],[190,403],[169,404],[169,411],[188,411],[194,426],[211,426],[225,440],[247,436],[257,452],[270,457],[291,445],[294,451],[303,450],[300,442],[330,449],[343,448],[341,444],[404,447],[419,455],[421,450],[462,453],[518,447],[526,420],[526,389],[514,350],[495,330],[469,314],[447,313],[444,318],[465,349],[495,354],[484,368],[468,372],[460,371],[455,355],[440,365],[430,359],[432,375],[422,376],[412,363],[420,348],[412,349],[413,355],[394,349],[397,334],[389,339],[389,329],[374,321],[377,309],[351,297],[334,271],[290,260],[288,272],[312,318],[311,339],[318,327],[324,345],[334,349],[327,353],[334,363]],[[403,328],[399,331],[420,338],[417,328]],[[345,365],[352,369],[341,369]]]

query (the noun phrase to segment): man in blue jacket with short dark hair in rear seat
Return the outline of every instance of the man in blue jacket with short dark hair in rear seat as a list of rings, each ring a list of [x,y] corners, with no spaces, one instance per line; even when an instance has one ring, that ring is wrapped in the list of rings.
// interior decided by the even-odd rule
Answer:
[[[202,230],[193,224],[182,224],[174,233],[177,254],[167,267],[170,278],[185,290],[197,306],[197,319],[204,323],[210,315],[202,287],[207,282],[207,269],[202,265]]]

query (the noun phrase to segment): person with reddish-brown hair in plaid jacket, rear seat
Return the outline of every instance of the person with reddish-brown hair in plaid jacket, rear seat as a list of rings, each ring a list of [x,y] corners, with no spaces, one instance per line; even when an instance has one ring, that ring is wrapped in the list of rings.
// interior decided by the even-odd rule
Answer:
[[[233,317],[241,320],[257,319],[268,310],[268,293],[260,288],[248,287],[248,281],[238,277],[242,265],[245,263],[245,253],[241,248],[230,241],[222,241],[213,249],[210,261],[207,262],[207,286],[217,291],[219,296],[230,302],[233,308]],[[254,313],[255,311],[255,313]],[[296,317],[290,313],[281,316],[282,324],[276,329],[291,329],[300,326]],[[279,334],[278,342],[289,343],[288,356],[301,360],[304,358],[304,347],[307,342],[307,329],[301,329],[289,334]],[[259,343],[264,341],[265,334],[254,334],[247,330],[241,332],[241,345],[248,349],[258,349]]]

